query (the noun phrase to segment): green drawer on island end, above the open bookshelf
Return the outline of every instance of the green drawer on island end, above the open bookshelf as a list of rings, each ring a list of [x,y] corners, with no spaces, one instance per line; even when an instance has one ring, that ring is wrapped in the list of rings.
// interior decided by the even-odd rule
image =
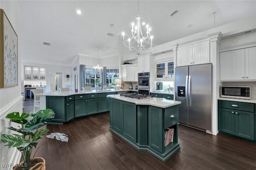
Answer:
[[[178,123],[178,105],[164,109],[164,129]]]

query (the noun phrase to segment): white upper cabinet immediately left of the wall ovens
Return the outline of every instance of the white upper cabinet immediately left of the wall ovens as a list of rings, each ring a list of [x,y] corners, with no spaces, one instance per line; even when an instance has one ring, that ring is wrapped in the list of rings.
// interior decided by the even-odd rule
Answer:
[[[138,65],[125,64],[123,67],[123,81],[138,81]]]

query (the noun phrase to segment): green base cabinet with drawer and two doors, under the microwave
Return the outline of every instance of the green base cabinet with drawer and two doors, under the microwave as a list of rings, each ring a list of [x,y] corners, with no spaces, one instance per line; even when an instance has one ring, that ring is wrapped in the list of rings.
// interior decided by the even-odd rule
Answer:
[[[255,104],[219,100],[218,107],[220,132],[254,140]]]

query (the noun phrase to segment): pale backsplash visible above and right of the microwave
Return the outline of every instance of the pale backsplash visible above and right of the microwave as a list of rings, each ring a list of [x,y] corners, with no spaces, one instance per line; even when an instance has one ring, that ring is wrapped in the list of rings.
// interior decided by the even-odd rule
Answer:
[[[256,99],[256,81],[224,81],[222,85],[231,85],[231,86],[250,86],[251,87],[251,99]]]

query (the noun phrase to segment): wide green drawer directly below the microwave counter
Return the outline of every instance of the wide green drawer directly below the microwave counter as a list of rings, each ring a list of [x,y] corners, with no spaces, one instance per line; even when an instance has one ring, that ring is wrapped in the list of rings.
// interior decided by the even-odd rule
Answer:
[[[254,112],[254,103],[219,100],[219,107],[240,111]]]

